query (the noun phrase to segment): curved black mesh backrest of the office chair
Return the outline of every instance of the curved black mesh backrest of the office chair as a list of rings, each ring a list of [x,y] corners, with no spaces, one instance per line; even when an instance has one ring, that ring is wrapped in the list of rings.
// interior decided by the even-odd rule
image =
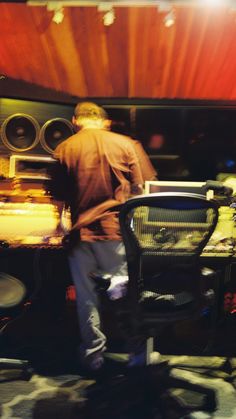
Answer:
[[[217,204],[201,195],[157,193],[124,204],[120,225],[136,301],[144,292],[197,293],[197,262],[217,219]]]

